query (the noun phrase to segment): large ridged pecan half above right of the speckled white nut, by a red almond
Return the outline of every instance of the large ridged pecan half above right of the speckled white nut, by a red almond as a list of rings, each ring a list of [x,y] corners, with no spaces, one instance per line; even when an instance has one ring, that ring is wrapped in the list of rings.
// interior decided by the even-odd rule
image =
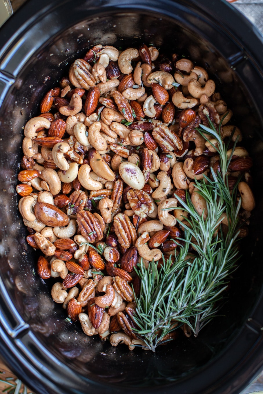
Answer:
[[[182,140],[166,125],[160,125],[153,129],[153,138],[166,153],[175,149],[183,149]]]

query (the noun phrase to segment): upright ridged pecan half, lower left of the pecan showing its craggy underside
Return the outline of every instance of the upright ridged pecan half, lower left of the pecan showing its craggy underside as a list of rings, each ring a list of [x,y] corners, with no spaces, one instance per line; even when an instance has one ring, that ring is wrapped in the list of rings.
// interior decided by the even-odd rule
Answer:
[[[128,248],[135,244],[137,233],[127,215],[117,214],[114,217],[113,226],[121,246]]]

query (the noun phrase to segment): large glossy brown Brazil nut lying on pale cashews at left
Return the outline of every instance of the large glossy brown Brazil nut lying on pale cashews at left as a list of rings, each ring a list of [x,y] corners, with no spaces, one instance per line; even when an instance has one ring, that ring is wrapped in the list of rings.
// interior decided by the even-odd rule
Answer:
[[[35,216],[50,227],[63,227],[69,224],[69,217],[52,204],[38,202],[34,208]]]

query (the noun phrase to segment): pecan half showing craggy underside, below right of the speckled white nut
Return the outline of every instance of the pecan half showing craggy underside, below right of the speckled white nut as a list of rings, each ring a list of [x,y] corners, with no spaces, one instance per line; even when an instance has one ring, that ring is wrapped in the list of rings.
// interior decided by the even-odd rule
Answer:
[[[146,217],[146,214],[154,211],[151,197],[143,190],[130,189],[127,192],[127,198],[133,212],[140,217]]]

